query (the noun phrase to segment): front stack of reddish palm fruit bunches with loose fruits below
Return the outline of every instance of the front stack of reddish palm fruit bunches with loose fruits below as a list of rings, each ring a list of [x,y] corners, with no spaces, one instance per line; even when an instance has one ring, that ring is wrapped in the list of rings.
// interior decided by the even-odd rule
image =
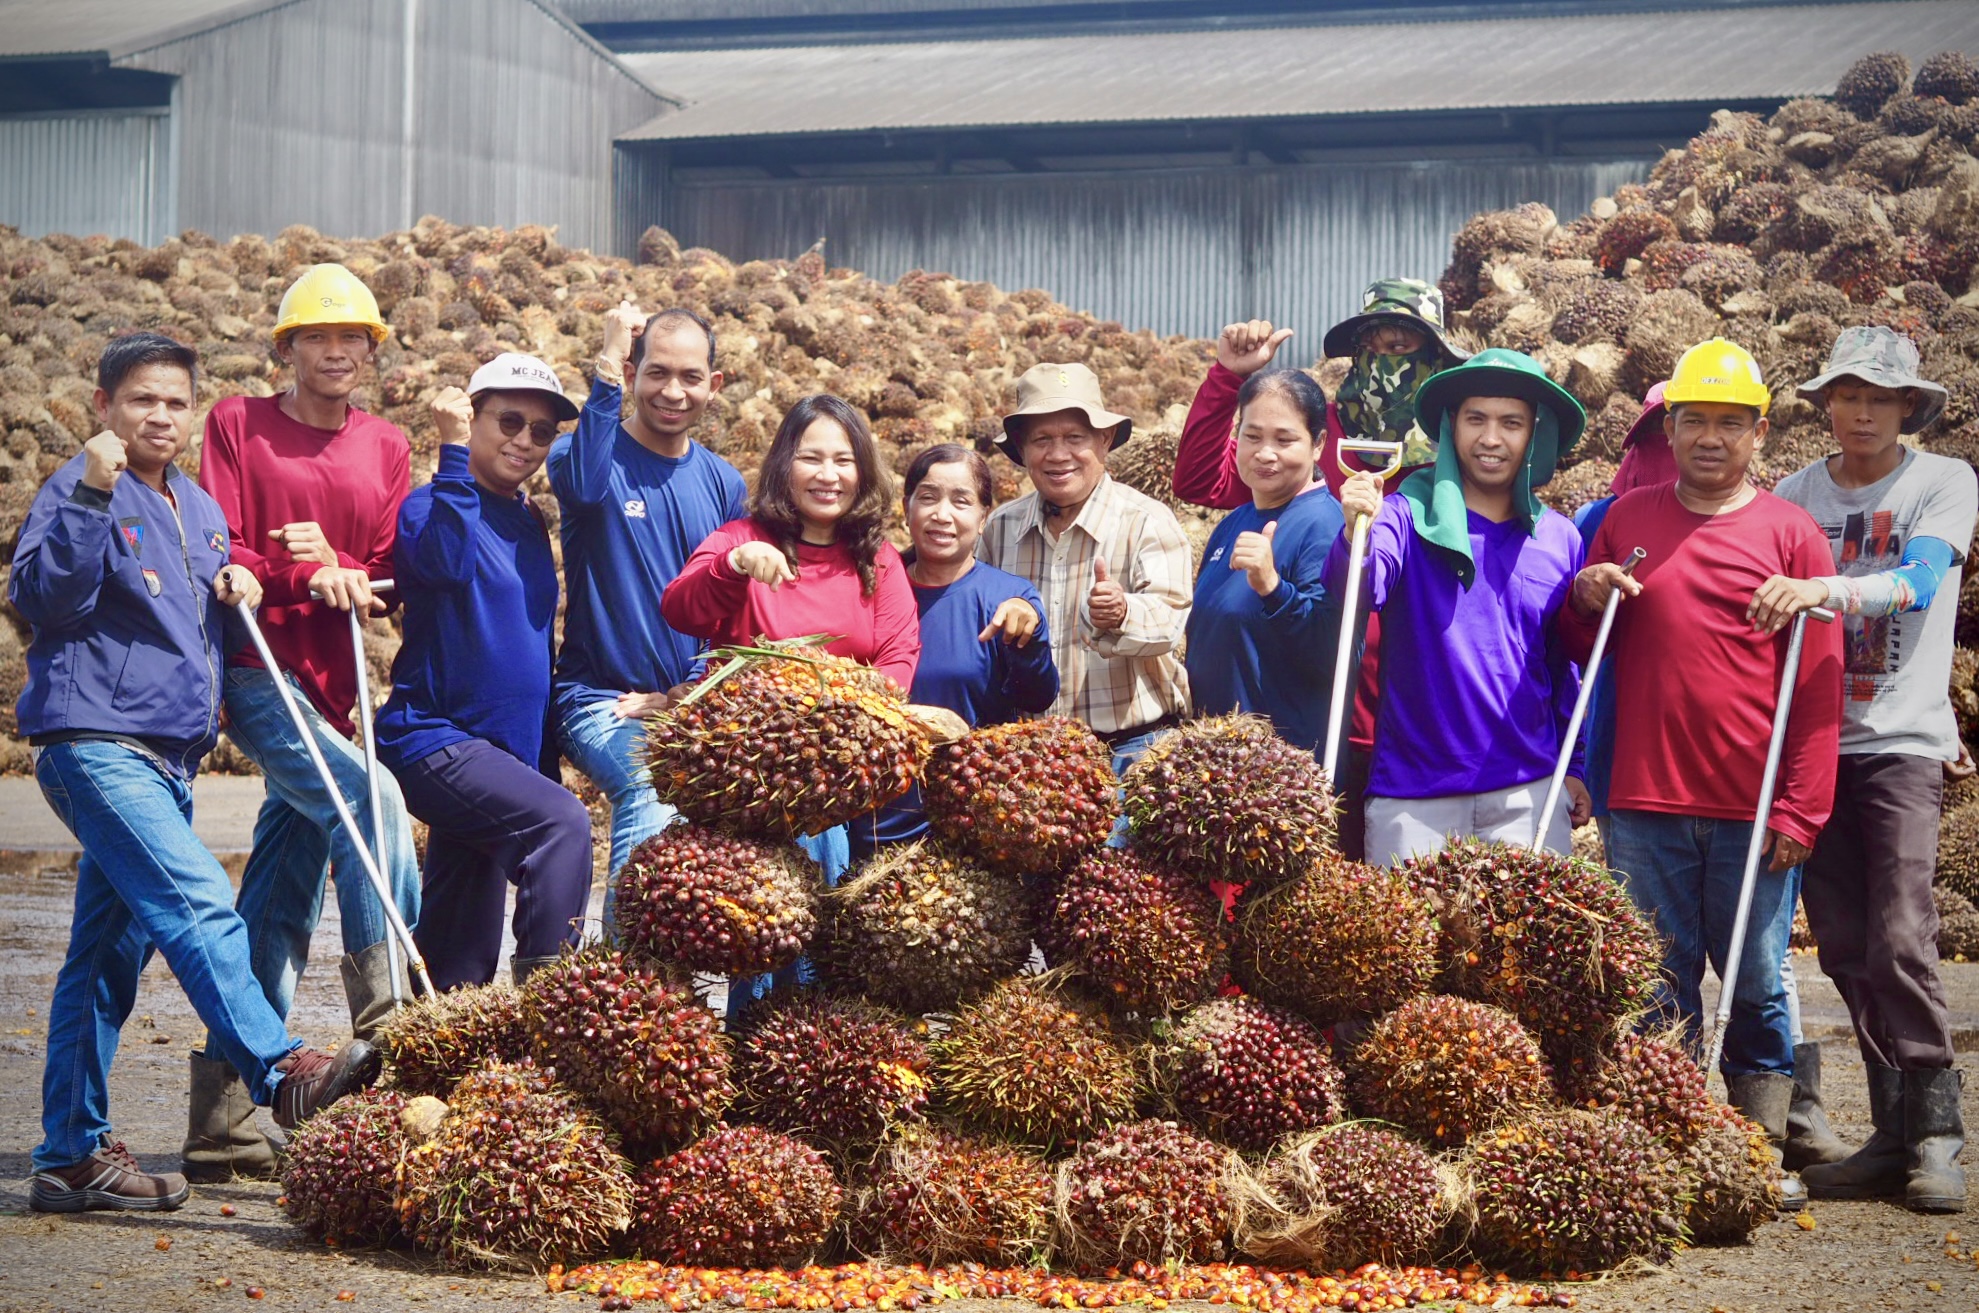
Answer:
[[[657,788],[730,786],[627,861],[615,943],[394,1018],[382,1089],[297,1135],[309,1234],[675,1307],[893,1271],[867,1285],[1290,1313],[1346,1287],[1272,1273],[1459,1297],[1773,1216],[1763,1135],[1641,1030],[1660,953],[1603,867],[1348,861],[1257,717],[1116,780],[1077,721],[934,733],[803,642],[708,665],[651,729]],[[908,778],[928,834],[827,887],[794,840]],[[695,992],[800,957],[732,1026]]]

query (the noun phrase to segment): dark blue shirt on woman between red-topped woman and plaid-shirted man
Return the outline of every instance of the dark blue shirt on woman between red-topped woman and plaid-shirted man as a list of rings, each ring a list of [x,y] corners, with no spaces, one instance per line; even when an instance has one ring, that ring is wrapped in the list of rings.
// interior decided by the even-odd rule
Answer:
[[[978,638],[1009,598],[1029,602],[1037,612],[1037,634],[1023,648],[1001,638]],[[1059,697],[1059,667],[1051,659],[1051,632],[1045,604],[1029,580],[984,560],[940,588],[914,584],[920,610],[920,665],[914,667],[910,697],[930,707],[948,707],[972,727],[1003,725],[1025,715],[1043,715]],[[853,822],[857,856],[879,844],[902,844],[928,830],[914,786],[879,812]]]

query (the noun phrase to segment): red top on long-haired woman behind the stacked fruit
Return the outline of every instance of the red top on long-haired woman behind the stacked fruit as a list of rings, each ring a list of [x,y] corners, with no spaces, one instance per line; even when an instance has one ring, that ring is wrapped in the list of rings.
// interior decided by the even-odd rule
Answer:
[[[877,667],[902,693],[912,689],[920,663],[920,608],[900,553],[881,543],[873,596],[863,594],[859,564],[839,543],[800,543],[798,578],[778,588],[728,568],[728,553],[742,543],[774,541],[754,519],[732,519],[710,533],[661,594],[661,618],[681,634],[714,644],[837,634],[829,652]]]

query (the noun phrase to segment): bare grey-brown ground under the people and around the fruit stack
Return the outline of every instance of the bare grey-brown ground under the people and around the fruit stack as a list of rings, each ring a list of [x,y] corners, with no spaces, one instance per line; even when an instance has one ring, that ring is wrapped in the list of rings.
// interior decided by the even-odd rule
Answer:
[[[71,889],[73,875],[59,869],[0,873],[0,1311],[596,1307],[590,1297],[546,1293],[538,1277],[459,1273],[402,1252],[325,1250],[287,1224],[273,1184],[200,1186],[174,1214],[28,1212],[28,1151],[40,1139],[42,1036],[67,939]],[[327,1042],[348,1028],[332,964],[334,923],[325,923],[317,943],[321,960],[303,978],[295,1030]],[[1801,959],[1799,968],[1809,1036],[1831,1042],[1831,1113],[1842,1135],[1866,1135],[1862,1069],[1844,1042],[1840,1000],[1813,959]],[[1961,1052],[1979,1052],[1979,964],[1947,964],[1945,974]],[[154,962],[111,1081],[119,1135],[152,1166],[176,1161],[186,1052],[200,1038],[192,1008]],[[222,1212],[226,1206],[234,1216]],[[1815,1204],[1811,1216],[1813,1230],[1779,1222],[1749,1246],[1692,1250],[1662,1271],[1563,1289],[1593,1313],[1979,1309],[1979,1263],[1969,1258],[1969,1242],[1955,1244],[1967,1258],[1945,1256],[1947,1232],[1979,1242],[1979,1216],[1969,1224],[1918,1218],[1888,1204]],[[249,1289],[265,1297],[249,1301]],[[340,1291],[352,1299],[338,1301]],[[991,1307],[958,1307],[958,1313],[991,1313]]]

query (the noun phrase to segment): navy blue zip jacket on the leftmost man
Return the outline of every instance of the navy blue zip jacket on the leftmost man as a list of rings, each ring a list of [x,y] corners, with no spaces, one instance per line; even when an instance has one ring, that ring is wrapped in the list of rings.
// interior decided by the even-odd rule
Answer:
[[[228,517],[176,465],[168,501],[129,469],[109,493],[71,457],[36,493],[8,600],[34,626],[16,713],[32,743],[131,739],[192,778],[220,739]]]

